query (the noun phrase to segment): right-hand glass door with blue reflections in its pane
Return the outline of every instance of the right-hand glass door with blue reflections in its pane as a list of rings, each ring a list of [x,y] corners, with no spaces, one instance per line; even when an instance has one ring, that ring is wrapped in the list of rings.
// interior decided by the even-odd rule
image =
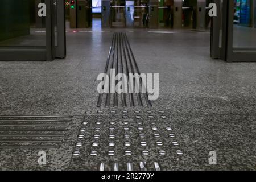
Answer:
[[[227,61],[256,61],[254,19],[254,0],[229,0]]]

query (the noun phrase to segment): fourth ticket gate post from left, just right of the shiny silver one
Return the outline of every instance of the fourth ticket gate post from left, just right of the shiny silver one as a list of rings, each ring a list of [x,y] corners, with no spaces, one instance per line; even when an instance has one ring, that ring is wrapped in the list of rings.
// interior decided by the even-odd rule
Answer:
[[[149,1],[149,28],[158,28],[158,0],[150,0]]]

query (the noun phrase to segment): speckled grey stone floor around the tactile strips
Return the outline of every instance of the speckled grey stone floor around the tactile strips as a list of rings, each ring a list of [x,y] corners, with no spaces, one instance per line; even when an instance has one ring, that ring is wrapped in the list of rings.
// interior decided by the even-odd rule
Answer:
[[[152,102],[151,110],[166,111],[184,152],[176,158],[170,148],[168,155],[161,157],[153,147],[149,158],[158,159],[166,170],[256,169],[256,63],[212,60],[209,32],[185,30],[172,30],[167,34],[148,30],[69,31],[66,59],[51,63],[1,62],[0,115],[77,115],[68,134],[72,142],[63,144],[63,149],[58,151],[47,151],[52,154],[49,165],[38,167],[36,150],[1,150],[1,169],[97,169],[100,160],[107,163],[110,159],[125,165],[128,160],[122,152],[108,160],[105,156],[85,159],[90,148],[85,148],[80,160],[71,159],[85,111],[90,110],[95,116],[98,110],[97,75],[104,71],[112,31],[126,31],[141,72],[160,74],[160,95]],[[143,113],[147,109],[137,108]],[[109,110],[102,110],[108,117]],[[133,109],[127,110],[133,112]],[[145,118],[142,120],[149,129]],[[91,122],[95,121],[94,118]],[[107,125],[108,119],[104,130]],[[121,123],[116,127],[121,129]],[[131,128],[135,127],[131,121]],[[158,127],[163,126],[159,123]],[[92,137],[93,126],[88,129]],[[102,133],[107,136],[106,131]],[[138,131],[132,133],[134,142],[139,143]],[[164,131],[161,134],[166,135]],[[119,137],[117,141],[118,145],[122,143]],[[89,138],[86,142],[91,143]],[[107,149],[100,150],[106,152]],[[137,156],[129,158],[135,164],[143,158],[139,150]],[[208,164],[208,152],[212,150],[217,152],[216,166]]]

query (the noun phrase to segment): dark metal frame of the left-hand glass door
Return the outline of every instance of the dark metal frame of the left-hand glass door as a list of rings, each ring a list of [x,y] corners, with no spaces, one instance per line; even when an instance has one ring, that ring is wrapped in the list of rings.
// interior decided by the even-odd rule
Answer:
[[[0,61],[52,61],[55,57],[65,57],[64,1],[54,1],[57,1],[57,12],[53,11],[55,8],[53,0],[47,0],[44,2],[46,3],[46,46],[0,47]],[[62,3],[63,6],[61,5]],[[57,15],[58,22],[57,47],[55,47],[54,13]]]

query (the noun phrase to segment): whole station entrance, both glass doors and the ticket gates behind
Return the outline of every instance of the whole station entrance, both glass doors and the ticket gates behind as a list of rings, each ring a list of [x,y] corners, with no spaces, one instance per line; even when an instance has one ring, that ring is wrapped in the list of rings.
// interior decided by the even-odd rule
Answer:
[[[209,3],[215,3],[216,17],[209,17]],[[66,27],[98,26],[163,31],[210,28],[213,59],[255,61],[255,10],[255,0],[5,0],[1,17],[16,18],[3,18],[0,25],[0,60],[64,58]]]

